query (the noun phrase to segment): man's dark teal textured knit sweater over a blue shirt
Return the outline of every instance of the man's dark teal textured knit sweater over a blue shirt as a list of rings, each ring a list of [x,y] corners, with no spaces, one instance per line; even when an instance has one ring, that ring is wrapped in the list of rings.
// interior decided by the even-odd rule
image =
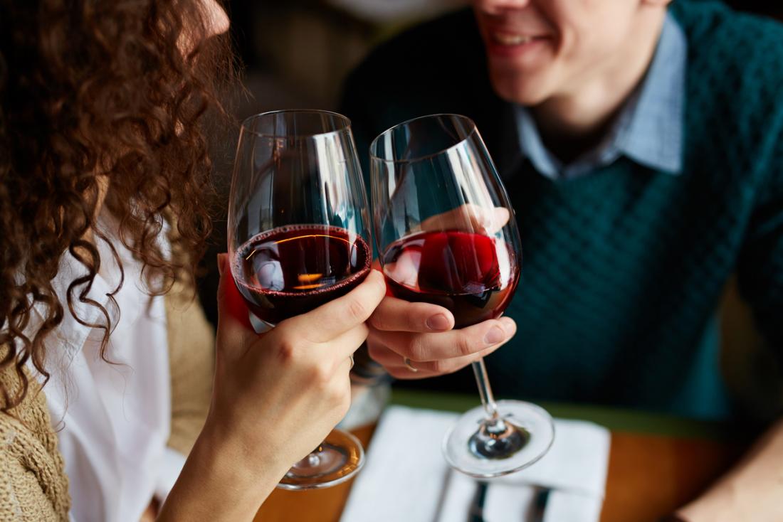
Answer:
[[[518,333],[487,359],[496,394],[725,419],[716,306],[738,275],[783,352],[783,26],[677,0],[687,36],[684,168],[621,158],[553,182],[518,160],[511,108],[493,94],[471,13],[409,31],[352,75],[343,110],[360,151],[410,117],[472,117],[511,194],[522,279]],[[474,390],[470,373],[430,387]]]

